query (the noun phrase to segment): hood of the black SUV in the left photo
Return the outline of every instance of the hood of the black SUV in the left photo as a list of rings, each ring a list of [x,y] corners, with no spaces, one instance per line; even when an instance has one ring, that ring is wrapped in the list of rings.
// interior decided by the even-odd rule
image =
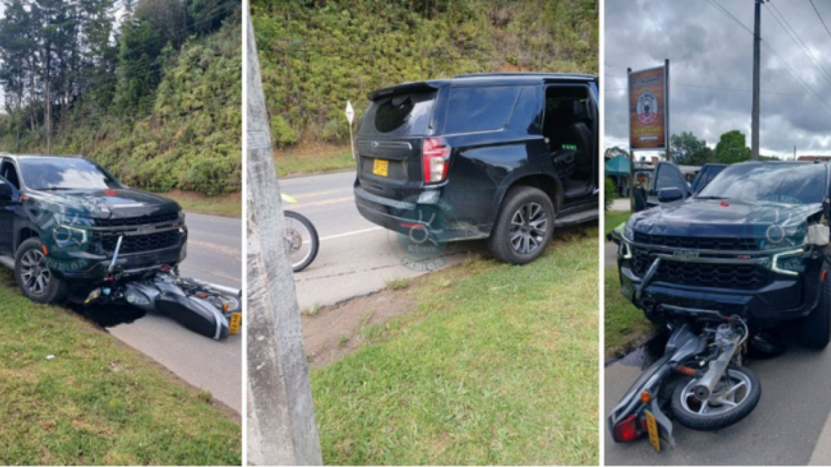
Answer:
[[[30,194],[45,209],[91,219],[125,219],[179,212],[171,199],[138,189],[78,189]]]

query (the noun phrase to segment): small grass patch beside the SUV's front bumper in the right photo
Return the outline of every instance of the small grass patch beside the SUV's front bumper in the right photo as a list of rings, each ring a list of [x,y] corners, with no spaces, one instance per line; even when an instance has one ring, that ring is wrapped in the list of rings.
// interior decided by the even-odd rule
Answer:
[[[622,296],[617,268],[606,268],[603,274],[603,291],[606,297],[603,312],[603,347],[606,355],[612,355],[646,336],[652,331],[652,322],[643,316],[642,310]]]

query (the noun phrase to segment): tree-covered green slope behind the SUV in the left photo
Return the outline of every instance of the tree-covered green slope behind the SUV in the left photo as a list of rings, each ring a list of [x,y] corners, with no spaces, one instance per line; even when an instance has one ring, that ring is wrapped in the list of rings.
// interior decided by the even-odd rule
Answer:
[[[142,189],[238,191],[238,2],[126,0],[120,18],[117,5],[11,2],[0,20],[0,151],[83,154]]]

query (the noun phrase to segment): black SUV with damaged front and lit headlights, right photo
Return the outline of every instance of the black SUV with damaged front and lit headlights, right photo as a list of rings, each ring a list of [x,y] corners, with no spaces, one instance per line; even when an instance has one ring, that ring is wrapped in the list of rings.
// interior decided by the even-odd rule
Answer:
[[[831,341],[827,164],[745,162],[720,166],[691,195],[680,171],[661,164],[660,205],[612,232],[621,292],[647,317],[717,312],[751,327],[796,321],[800,341]]]

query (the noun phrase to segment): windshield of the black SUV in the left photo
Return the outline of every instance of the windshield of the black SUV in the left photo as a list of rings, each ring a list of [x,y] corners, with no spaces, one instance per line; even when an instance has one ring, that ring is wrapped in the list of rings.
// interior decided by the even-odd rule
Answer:
[[[30,189],[121,188],[116,179],[89,160],[26,158],[19,165],[23,184]]]

